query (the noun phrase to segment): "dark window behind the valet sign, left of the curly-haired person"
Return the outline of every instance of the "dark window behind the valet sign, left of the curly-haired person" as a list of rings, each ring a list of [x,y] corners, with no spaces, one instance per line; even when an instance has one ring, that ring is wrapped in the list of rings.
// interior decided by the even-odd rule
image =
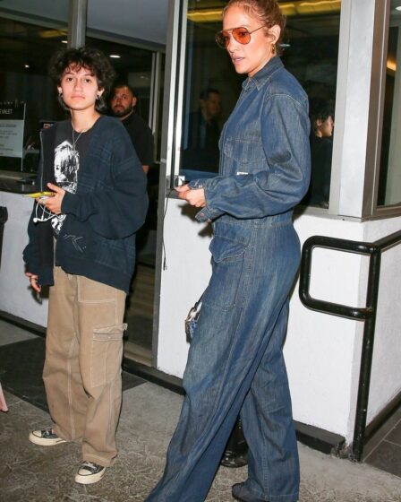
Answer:
[[[26,105],[22,165],[20,157],[4,155],[0,169],[35,172],[41,123],[63,117],[47,64],[56,48],[65,47],[67,30],[0,17],[0,31],[0,102]]]

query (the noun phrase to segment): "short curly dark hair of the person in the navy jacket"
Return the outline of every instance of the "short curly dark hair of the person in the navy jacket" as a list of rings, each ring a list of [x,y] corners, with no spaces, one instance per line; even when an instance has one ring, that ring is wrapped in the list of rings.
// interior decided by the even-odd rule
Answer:
[[[115,81],[115,71],[107,56],[97,48],[86,46],[58,50],[50,59],[48,74],[57,85],[60,85],[65,70],[71,67],[76,71],[87,68],[96,77],[98,88],[104,89],[104,92],[96,101],[95,109],[98,112],[107,110],[106,96]],[[69,109],[60,95],[58,100],[64,110]]]

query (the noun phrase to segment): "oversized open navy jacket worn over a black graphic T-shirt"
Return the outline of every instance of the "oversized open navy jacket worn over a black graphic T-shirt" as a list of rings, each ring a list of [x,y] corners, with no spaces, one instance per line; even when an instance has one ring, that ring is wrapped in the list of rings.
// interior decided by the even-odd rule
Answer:
[[[42,131],[37,188],[55,183],[55,124]],[[36,203],[35,203],[36,204]],[[148,210],[146,175],[121,122],[100,117],[78,171],[75,194],[65,193],[66,214],[54,246],[51,221],[34,223],[23,251],[27,271],[53,285],[53,266],[128,292],[135,264],[135,232]]]

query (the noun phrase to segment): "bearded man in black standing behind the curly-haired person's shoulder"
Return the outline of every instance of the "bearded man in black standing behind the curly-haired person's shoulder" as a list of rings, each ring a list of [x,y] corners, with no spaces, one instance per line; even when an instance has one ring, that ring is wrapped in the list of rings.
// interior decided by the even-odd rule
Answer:
[[[133,147],[141,160],[142,168],[148,174],[154,162],[153,135],[149,125],[135,112],[138,97],[125,82],[115,85],[110,100],[113,115],[119,118],[130,135]]]

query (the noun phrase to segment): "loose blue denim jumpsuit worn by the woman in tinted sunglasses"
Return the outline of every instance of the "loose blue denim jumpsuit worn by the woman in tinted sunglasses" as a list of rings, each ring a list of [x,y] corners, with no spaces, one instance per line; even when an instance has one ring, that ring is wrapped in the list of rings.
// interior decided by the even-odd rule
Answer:
[[[308,99],[270,59],[243,91],[220,138],[218,177],[194,180],[213,221],[202,298],[166,468],[148,502],[201,502],[241,412],[247,502],[296,502],[299,463],[282,346],[300,261],[292,210],[310,179]]]

